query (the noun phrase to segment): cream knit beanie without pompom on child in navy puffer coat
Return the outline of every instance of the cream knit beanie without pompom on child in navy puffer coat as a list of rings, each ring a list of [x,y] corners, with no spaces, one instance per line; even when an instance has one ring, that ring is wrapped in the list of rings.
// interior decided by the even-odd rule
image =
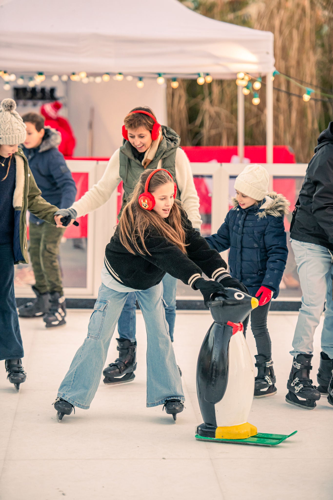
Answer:
[[[235,189],[258,201],[268,194],[270,175],[266,168],[258,163],[247,165],[236,177]]]

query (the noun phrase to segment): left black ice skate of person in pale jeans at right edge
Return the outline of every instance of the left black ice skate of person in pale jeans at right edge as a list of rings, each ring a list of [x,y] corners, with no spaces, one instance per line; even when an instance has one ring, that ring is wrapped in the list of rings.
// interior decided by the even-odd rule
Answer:
[[[316,401],[320,399],[321,393],[309,378],[312,358],[312,354],[298,354],[297,357],[294,357],[287,382],[289,390],[286,395],[287,403],[307,409],[316,407]]]

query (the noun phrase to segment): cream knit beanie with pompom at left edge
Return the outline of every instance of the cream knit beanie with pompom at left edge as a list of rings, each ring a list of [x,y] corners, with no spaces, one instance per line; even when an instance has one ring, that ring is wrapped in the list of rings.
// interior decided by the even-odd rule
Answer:
[[[3,99],[0,104],[0,144],[20,144],[26,137],[25,123],[18,114],[13,99]]]

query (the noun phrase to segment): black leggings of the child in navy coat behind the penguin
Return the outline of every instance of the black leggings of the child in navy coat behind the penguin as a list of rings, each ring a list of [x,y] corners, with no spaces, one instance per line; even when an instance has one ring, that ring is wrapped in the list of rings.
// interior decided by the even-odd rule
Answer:
[[[258,354],[264,354],[269,359],[272,358],[271,337],[267,329],[267,315],[270,310],[271,300],[265,305],[258,305],[251,311],[251,329],[253,331]],[[243,321],[244,336],[249,323],[250,314]]]

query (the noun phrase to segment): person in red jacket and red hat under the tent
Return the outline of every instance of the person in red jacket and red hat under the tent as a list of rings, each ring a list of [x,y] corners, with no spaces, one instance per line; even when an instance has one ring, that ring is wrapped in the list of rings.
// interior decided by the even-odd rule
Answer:
[[[45,125],[55,128],[61,133],[61,142],[59,144],[59,151],[64,156],[72,156],[76,139],[69,121],[63,116],[59,116],[58,112],[62,108],[61,102],[55,100],[54,102],[47,102],[40,107],[40,113],[45,117]]]

